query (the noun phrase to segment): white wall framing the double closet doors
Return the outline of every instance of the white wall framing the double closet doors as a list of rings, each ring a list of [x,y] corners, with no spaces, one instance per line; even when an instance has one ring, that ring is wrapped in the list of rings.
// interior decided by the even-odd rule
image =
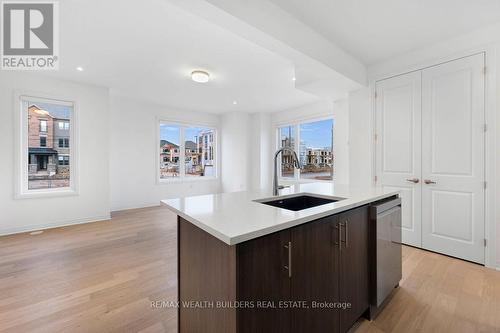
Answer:
[[[440,62],[453,60],[477,52],[486,52],[487,76],[487,150],[493,152],[487,160],[487,179],[490,186],[487,189],[489,198],[487,200],[487,235],[489,246],[487,247],[487,265],[497,266],[500,269],[500,205],[498,198],[500,193],[500,24],[480,29],[453,39],[449,39],[428,47],[414,50],[398,57],[372,65],[368,68],[369,80],[373,82],[400,73],[408,72],[435,65]],[[351,104],[351,132],[363,133],[359,124],[355,124],[355,118],[371,119],[369,89],[362,89],[350,94]],[[361,125],[362,126],[362,125]],[[372,125],[370,124],[372,127]],[[356,127],[354,129],[353,127]],[[354,133],[352,133],[354,135]],[[351,136],[352,137],[352,136]],[[363,138],[351,151],[351,165],[363,165],[366,163],[362,152],[371,151],[370,142]],[[353,142],[351,142],[351,145]],[[351,169],[353,172],[353,169]],[[362,170],[354,171],[356,174],[364,175]],[[356,178],[352,173],[351,179]],[[496,262],[496,264],[495,264]]]

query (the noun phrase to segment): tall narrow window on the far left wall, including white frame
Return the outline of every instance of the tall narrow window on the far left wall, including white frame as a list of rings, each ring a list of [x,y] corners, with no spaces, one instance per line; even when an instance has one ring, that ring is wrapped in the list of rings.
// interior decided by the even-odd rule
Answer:
[[[74,104],[22,95],[19,100],[19,128],[24,139],[18,150],[17,197],[74,192],[75,171],[70,166],[74,152],[69,147],[74,135],[69,131],[74,119]]]

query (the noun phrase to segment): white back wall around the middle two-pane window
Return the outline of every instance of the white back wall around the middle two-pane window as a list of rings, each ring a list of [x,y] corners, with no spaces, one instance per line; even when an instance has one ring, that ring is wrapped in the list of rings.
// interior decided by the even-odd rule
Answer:
[[[220,179],[158,183],[158,119],[219,126],[217,115],[169,107],[111,94],[111,210],[156,206],[160,200],[215,193]]]

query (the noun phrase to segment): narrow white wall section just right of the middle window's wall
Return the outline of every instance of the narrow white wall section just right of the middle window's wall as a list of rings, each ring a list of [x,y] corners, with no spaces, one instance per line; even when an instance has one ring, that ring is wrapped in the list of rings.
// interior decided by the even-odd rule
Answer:
[[[251,122],[246,112],[221,115],[221,182],[223,192],[250,188]]]

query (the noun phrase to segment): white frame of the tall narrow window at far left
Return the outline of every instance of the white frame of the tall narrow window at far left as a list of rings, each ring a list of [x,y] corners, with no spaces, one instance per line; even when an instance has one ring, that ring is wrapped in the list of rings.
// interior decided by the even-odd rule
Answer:
[[[23,108],[23,102],[39,102],[49,104],[59,104],[72,106],[73,112],[70,122],[70,142],[73,142],[69,157],[70,165],[70,185],[63,188],[50,189],[28,189],[28,114]],[[33,91],[14,92],[14,113],[15,113],[15,158],[14,158],[14,198],[32,199],[45,197],[62,197],[78,195],[78,104],[76,98],[70,96],[58,96],[48,93]]]

